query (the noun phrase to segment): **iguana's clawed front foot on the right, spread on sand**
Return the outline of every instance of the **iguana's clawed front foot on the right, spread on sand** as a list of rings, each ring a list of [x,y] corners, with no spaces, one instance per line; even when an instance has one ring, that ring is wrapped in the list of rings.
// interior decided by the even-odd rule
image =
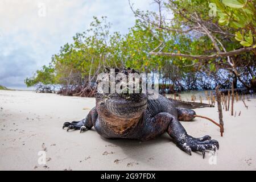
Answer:
[[[202,152],[203,159],[205,156],[206,150],[216,151],[216,148],[219,148],[219,144],[217,140],[211,140],[209,136],[205,136],[202,138],[193,138],[189,135],[184,135],[181,137],[179,142],[176,142],[177,147],[181,150],[187,152],[189,155],[192,155],[193,152]]]

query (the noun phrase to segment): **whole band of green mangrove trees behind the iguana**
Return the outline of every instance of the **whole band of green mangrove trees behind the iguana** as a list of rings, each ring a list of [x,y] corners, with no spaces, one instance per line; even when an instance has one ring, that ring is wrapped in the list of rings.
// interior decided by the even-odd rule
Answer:
[[[105,16],[93,17],[88,30],[60,48],[27,86],[61,85],[61,94],[93,96],[94,82],[105,67],[158,72],[162,85],[176,90],[250,88],[255,77],[255,49],[237,55],[198,59],[255,44],[255,5],[245,0],[153,0],[159,13],[133,10],[137,20],[126,35],[112,32]],[[214,3],[214,4],[213,4]],[[216,16],[209,16],[216,5]],[[166,14],[172,13],[172,18]],[[252,14],[253,13],[253,14]],[[161,54],[163,53],[163,54]],[[169,53],[169,54],[168,54]],[[159,56],[160,55],[160,56]],[[171,56],[170,56],[171,55]]]

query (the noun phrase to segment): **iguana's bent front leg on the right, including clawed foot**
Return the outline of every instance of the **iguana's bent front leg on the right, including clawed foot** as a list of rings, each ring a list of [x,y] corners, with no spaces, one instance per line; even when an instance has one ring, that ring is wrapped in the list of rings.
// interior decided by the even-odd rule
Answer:
[[[187,134],[187,131],[181,125],[176,117],[170,113],[159,113],[156,115],[157,122],[169,122],[167,133],[174,139],[177,147],[191,155],[191,152],[202,152],[203,158],[205,150],[216,150],[219,144],[216,140],[211,140],[209,136],[202,138],[193,138]]]

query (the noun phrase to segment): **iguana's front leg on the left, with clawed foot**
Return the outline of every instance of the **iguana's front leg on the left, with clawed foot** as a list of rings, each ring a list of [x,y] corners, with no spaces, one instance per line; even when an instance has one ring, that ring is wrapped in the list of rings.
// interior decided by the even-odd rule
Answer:
[[[97,113],[96,107],[93,107],[93,109],[90,110],[89,114],[86,116],[85,119],[82,119],[81,121],[73,121],[71,123],[65,122],[63,124],[63,129],[65,127],[68,127],[67,131],[80,130],[80,133],[82,133],[83,131],[92,129],[97,118],[98,118],[98,113]]]

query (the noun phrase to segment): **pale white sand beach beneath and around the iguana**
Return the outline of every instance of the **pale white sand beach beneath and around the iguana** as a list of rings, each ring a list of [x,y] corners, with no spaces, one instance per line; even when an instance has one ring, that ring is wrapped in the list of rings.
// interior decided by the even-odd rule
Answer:
[[[224,111],[224,137],[204,119],[183,122],[192,136],[210,135],[220,142],[216,158],[208,152],[203,159],[201,154],[185,154],[167,134],[139,142],[104,139],[94,130],[80,134],[61,129],[63,122],[85,117],[94,98],[0,90],[0,170],[256,170],[256,100],[246,104],[249,109],[242,102],[235,105],[240,117]],[[216,107],[196,112],[218,121]],[[47,147],[47,168],[38,164],[42,143]],[[216,164],[210,165],[210,159]]]

